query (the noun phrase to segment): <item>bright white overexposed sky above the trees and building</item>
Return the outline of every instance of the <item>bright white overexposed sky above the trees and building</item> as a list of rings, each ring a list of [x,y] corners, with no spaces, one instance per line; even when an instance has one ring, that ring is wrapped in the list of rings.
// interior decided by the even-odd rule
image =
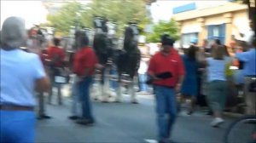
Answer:
[[[102,0],[105,1],[105,0]],[[186,3],[199,3],[199,7],[205,7],[212,4],[216,4],[216,1],[189,1],[189,0],[158,0],[150,7],[151,14],[154,22],[159,20],[170,20],[172,17],[172,9],[181,6]],[[48,14],[47,9],[44,8],[40,0],[1,0],[1,26],[3,20],[9,16],[19,16],[25,19],[26,28],[32,27],[34,24],[46,22],[46,16]],[[82,3],[88,3],[90,0],[80,1]],[[225,0],[218,0],[219,3],[226,2]]]

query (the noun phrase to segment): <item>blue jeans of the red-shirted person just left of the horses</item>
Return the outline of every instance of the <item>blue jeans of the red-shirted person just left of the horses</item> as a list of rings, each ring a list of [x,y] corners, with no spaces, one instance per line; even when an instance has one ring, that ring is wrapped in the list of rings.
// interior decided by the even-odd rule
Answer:
[[[79,96],[82,104],[82,117],[89,120],[94,120],[91,113],[90,105],[90,85],[92,84],[92,77],[84,77],[79,81]]]

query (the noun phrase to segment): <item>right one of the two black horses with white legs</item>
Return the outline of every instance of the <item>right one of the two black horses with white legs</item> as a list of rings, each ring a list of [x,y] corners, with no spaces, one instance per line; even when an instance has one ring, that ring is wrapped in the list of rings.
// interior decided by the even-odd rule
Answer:
[[[128,89],[131,91],[131,102],[137,103],[136,94],[134,91],[134,77],[137,75],[139,63],[141,59],[140,50],[137,47],[139,28],[136,23],[130,23],[125,28],[124,49],[119,53],[117,58],[118,81],[119,88],[116,101],[121,98],[121,83],[122,78],[126,77]]]

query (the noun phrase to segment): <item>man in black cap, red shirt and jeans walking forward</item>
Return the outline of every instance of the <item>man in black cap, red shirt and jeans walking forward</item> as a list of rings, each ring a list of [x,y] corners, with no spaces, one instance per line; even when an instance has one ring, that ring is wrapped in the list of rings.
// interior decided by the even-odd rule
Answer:
[[[154,80],[159,142],[166,143],[170,142],[170,132],[177,116],[176,92],[183,83],[184,67],[180,55],[173,49],[174,40],[165,34],[161,43],[161,51],[150,60],[148,75]],[[169,73],[169,77],[158,77],[161,73]]]

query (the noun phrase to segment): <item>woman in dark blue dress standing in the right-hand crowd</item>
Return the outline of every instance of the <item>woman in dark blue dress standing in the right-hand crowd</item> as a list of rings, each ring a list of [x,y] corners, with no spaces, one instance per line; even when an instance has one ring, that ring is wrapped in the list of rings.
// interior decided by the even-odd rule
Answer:
[[[191,45],[188,51],[183,55],[183,64],[185,66],[186,74],[184,76],[181,94],[183,99],[191,100],[188,114],[192,114],[195,110],[195,99],[197,95],[197,78],[196,72],[199,64],[196,61],[196,52],[198,47]]]

